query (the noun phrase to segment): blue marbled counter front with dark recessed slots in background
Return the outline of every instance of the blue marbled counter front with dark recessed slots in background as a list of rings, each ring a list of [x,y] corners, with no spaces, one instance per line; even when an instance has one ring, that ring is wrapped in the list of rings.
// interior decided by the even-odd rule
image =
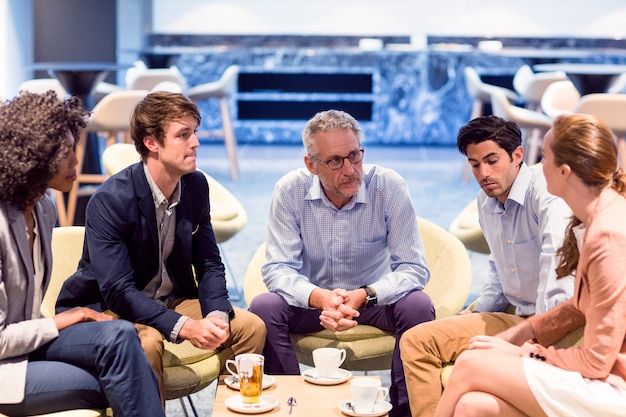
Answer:
[[[354,100],[371,102],[371,120],[361,120],[367,143],[451,146],[456,143],[458,129],[468,121],[471,112],[472,102],[463,80],[465,66],[476,67],[485,76],[503,77],[504,81],[508,79],[510,82],[512,74],[521,65],[535,63],[538,59],[541,62],[626,63],[626,54],[615,44],[597,43],[591,45],[595,48],[587,49],[585,53],[581,53],[580,49],[560,49],[555,54],[558,59],[549,59],[550,48],[553,47],[549,43],[547,46],[542,44],[542,54],[537,54],[533,48],[528,48],[526,54],[511,54],[504,53],[506,44],[503,53],[486,53],[471,45],[477,40],[471,39],[468,43],[467,39],[463,42],[463,39],[456,38],[437,38],[433,40],[432,47],[420,50],[412,49],[408,43],[398,45],[395,43],[398,39],[391,38],[385,39],[387,47],[378,51],[360,50],[354,44],[358,37],[341,38],[338,45],[322,46],[319,42],[312,43],[307,37],[291,37],[284,42],[276,42],[273,37],[274,43],[270,46],[267,40],[260,42],[260,46],[254,46],[253,39],[245,42],[237,39],[231,44],[232,37],[215,39],[213,36],[210,42],[193,36],[171,38],[172,35],[168,35],[169,43],[160,45],[172,50],[176,49],[176,45],[184,47],[180,49],[175,63],[187,77],[189,86],[216,80],[231,64],[239,65],[244,74],[371,74],[372,91],[369,94],[286,93],[280,90],[234,94],[230,98],[230,108],[240,143],[300,143],[300,132],[306,118],[313,115],[293,120],[244,120],[238,115],[238,104],[243,102],[263,100],[271,104],[303,101],[317,103],[322,108],[328,102]],[[306,43],[298,44],[302,40]],[[154,42],[153,46],[159,45]],[[197,42],[202,42],[202,46]],[[562,40],[560,42],[563,43]],[[566,46],[571,48],[572,42],[570,40]],[[554,48],[562,48],[561,43],[555,44]],[[589,47],[587,44],[586,41],[583,47]],[[528,45],[537,47],[533,42]],[[519,47],[517,43],[512,46]],[[568,55],[567,51],[571,54]],[[219,127],[216,100],[201,103],[200,106],[204,117],[203,128]]]

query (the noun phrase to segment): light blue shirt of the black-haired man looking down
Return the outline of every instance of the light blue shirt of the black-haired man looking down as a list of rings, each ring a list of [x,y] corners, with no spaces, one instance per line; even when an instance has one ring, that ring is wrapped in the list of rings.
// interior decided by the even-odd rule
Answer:
[[[574,278],[556,279],[555,252],[572,212],[548,192],[540,165],[522,164],[504,206],[481,190],[478,214],[491,255],[474,311],[503,311],[512,304],[527,316],[571,298]]]

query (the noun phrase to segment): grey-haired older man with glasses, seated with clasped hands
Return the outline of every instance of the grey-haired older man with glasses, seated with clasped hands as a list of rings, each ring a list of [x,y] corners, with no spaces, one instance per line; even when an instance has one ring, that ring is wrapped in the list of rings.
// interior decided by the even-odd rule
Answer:
[[[349,114],[316,114],[302,132],[306,169],[275,186],[267,262],[250,311],[263,319],[269,374],[300,373],[289,333],[368,324],[395,332],[435,318],[430,278],[408,187],[396,172],[363,165],[363,133]],[[408,416],[404,371],[393,355],[390,416]]]

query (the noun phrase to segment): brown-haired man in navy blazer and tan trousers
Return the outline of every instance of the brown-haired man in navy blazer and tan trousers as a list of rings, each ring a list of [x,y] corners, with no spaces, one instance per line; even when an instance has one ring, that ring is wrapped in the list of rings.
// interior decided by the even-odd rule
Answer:
[[[228,300],[208,184],[196,171],[200,120],[182,94],[155,92],[137,105],[131,136],[141,162],[90,199],[83,256],[57,301],[57,311],[90,306],[136,323],[162,398],[163,338],[220,349],[222,361],[265,343],[263,321]]]

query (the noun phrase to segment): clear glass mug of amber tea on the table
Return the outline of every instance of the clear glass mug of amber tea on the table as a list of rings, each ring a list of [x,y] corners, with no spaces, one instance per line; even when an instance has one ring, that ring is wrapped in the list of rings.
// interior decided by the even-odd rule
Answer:
[[[243,353],[235,356],[235,360],[226,360],[226,370],[239,378],[242,403],[255,404],[261,401],[264,362],[263,355],[256,353]],[[235,370],[230,365],[234,365]]]

